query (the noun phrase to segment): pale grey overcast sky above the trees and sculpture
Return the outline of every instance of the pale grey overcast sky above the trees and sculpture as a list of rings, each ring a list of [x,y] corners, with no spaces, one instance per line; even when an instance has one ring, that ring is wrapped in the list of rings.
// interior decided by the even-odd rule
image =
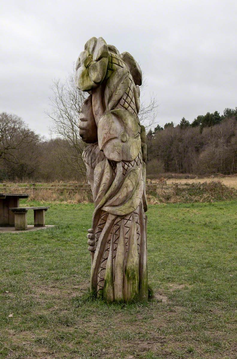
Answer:
[[[92,36],[140,63],[160,125],[237,106],[237,1],[7,0],[0,11],[0,112],[48,137],[52,80],[72,72]]]

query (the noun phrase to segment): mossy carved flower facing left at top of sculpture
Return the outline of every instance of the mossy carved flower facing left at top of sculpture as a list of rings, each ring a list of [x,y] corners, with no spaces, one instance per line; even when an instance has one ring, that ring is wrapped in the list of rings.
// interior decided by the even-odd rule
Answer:
[[[108,46],[102,37],[92,37],[76,63],[76,85],[82,91],[96,88],[104,80],[108,66]]]

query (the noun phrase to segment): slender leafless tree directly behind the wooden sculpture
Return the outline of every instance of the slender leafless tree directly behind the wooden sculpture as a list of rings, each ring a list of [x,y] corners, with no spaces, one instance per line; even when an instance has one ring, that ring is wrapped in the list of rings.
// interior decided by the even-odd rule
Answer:
[[[88,94],[79,90],[75,85],[75,71],[63,82],[54,80],[52,95],[50,97],[51,111],[46,114],[52,120],[51,135],[58,136],[65,141],[59,141],[61,153],[60,160],[67,163],[72,172],[77,171],[85,179],[86,168],[82,161],[82,152],[85,144],[79,136],[78,121],[82,103]],[[142,92],[146,88],[146,80],[141,87]],[[143,98],[143,97],[141,97]],[[154,94],[150,95],[150,102],[141,101],[139,118],[147,128],[154,124],[156,109],[158,107]]]

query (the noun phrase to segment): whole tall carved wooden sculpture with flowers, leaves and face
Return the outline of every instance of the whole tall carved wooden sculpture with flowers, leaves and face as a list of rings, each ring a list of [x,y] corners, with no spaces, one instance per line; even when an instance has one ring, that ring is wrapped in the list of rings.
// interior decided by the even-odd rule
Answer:
[[[91,291],[106,302],[146,301],[146,132],[140,125],[140,66],[102,37],[92,37],[76,64],[84,102],[80,136],[95,210],[88,229]]]

